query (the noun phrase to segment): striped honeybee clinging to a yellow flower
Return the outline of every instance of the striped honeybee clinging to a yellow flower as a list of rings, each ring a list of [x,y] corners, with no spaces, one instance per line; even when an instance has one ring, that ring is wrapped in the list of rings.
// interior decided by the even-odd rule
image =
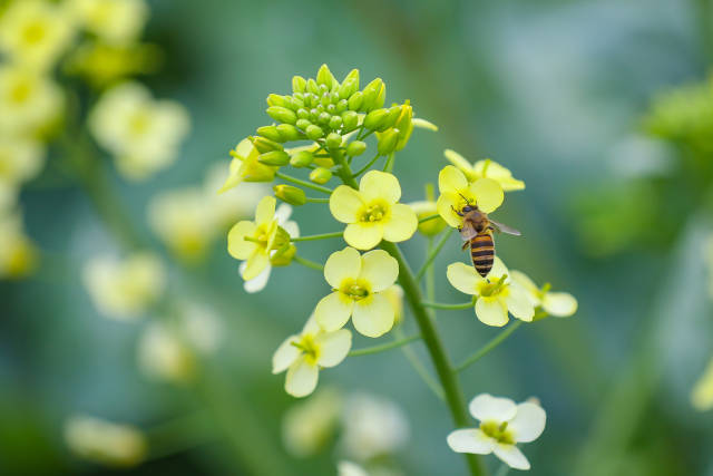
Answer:
[[[478,210],[477,206],[467,203],[460,211],[453,210],[463,217],[463,225],[459,227],[460,237],[465,240],[462,249],[470,246],[470,258],[472,265],[482,278],[492,269],[495,259],[495,242],[492,232],[502,232],[510,235],[520,236],[521,233],[501,223],[488,218],[488,214]]]

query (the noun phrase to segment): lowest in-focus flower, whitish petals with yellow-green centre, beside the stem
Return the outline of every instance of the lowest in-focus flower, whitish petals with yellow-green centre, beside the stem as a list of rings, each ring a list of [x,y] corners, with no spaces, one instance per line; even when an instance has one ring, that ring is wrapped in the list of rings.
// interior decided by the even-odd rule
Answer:
[[[470,414],[480,428],[458,429],[448,435],[448,446],[456,453],[495,455],[515,469],[529,469],[530,464],[516,444],[536,440],[545,430],[543,408],[525,401],[516,405],[509,398],[481,394],[472,399]]]

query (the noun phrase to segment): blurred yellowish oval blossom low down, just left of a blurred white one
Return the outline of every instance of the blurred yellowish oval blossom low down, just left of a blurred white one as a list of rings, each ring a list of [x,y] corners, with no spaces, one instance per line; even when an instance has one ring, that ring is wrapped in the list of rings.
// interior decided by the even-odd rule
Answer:
[[[336,390],[325,388],[287,410],[282,420],[282,440],[299,458],[316,455],[334,436],[342,408]]]

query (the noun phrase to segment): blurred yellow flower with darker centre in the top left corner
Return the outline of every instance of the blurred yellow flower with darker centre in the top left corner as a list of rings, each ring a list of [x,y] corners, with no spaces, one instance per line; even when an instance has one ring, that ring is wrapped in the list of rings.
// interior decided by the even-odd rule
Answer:
[[[13,1],[0,16],[0,51],[32,69],[51,68],[74,33],[66,10],[50,1]]]

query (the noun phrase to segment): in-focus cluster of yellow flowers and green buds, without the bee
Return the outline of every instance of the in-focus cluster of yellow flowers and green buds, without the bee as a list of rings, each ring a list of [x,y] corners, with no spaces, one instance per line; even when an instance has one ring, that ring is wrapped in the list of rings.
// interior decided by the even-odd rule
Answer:
[[[472,307],[481,322],[495,327],[505,326],[509,314],[530,322],[550,314],[568,317],[576,312],[574,297],[551,292],[549,284],[537,286],[524,273],[508,270],[499,258],[495,258],[485,276],[471,264],[458,262],[447,268],[449,282],[473,297],[469,303],[449,307],[422,301],[418,279],[393,243],[410,240],[417,231],[428,236],[443,233],[445,243],[449,234],[445,227],[463,229],[463,210],[495,212],[502,204],[505,192],[522,190],[525,184],[491,159],[471,164],[458,153],[446,150],[446,158],[453,165],[439,174],[438,200],[427,188],[427,200],[411,205],[401,203],[401,185],[392,174],[394,154],[407,145],[414,126],[437,130],[436,126],[414,118],[409,101],[384,107],[383,81],[374,79],[360,89],[358,70],[340,82],[323,65],[315,79],[295,76],[292,86],[292,95],[267,97],[266,113],[275,123],[257,128],[256,135],[243,139],[231,152],[233,159],[222,187],[226,192],[244,182],[282,182],[273,186],[275,197],[260,201],[253,221],[240,221],[228,233],[227,250],[243,262],[240,269],[246,282],[272,266],[297,262],[323,271],[331,289],[316,302],[302,332],[285,339],[273,356],[273,373],[286,371],[285,390],[290,395],[312,394],[320,369],[334,367],[346,358],[352,346],[352,333],[345,328],[350,320],[356,332],[369,338],[392,330],[404,294],[423,334],[433,332],[429,323],[419,320],[427,307]],[[377,138],[374,156],[358,165],[359,157],[369,148],[364,139],[372,134]],[[302,144],[286,147],[291,142]],[[381,157],[385,157],[383,167],[375,169]],[[290,175],[285,173],[287,167],[296,172],[306,169],[307,176]],[[359,168],[352,172],[352,167]],[[335,188],[325,186],[335,178],[342,184]],[[309,197],[310,191],[329,197]],[[296,225],[287,226],[277,216],[277,198],[295,206],[326,203],[331,215],[344,229],[300,236]],[[339,237],[348,246],[332,253],[323,265],[297,254],[302,242]],[[440,247],[429,256],[423,270],[432,265],[438,251]],[[403,289],[397,288],[397,280]],[[418,337],[393,346],[414,339]],[[432,357],[433,346],[429,344]],[[480,429],[455,431],[449,437],[453,450],[495,453],[512,467],[529,468],[515,444],[531,441],[543,431],[545,412],[538,405],[516,406],[511,400],[484,395],[473,400],[471,412],[481,420]],[[345,463],[342,473],[355,468],[350,465]]]

